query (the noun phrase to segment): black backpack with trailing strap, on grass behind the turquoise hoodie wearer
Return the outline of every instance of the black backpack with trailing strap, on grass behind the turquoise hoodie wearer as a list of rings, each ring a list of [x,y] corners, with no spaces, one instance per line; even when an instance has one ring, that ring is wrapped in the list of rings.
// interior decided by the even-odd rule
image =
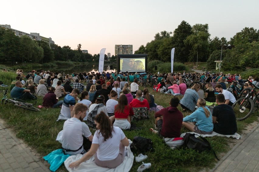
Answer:
[[[197,134],[191,134],[191,133],[186,133],[184,138],[184,147],[187,147],[189,149],[194,149],[195,151],[201,153],[202,151],[205,150],[212,150],[212,147],[209,144],[209,141],[199,135],[199,138],[196,138],[195,135]],[[219,158],[217,157],[216,153],[213,151],[214,156],[216,157],[217,160],[219,160]]]

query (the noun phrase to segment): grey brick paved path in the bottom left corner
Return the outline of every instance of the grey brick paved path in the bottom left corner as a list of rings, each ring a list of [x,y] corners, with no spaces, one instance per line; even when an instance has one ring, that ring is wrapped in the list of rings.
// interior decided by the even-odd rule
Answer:
[[[0,119],[0,171],[50,171]]]

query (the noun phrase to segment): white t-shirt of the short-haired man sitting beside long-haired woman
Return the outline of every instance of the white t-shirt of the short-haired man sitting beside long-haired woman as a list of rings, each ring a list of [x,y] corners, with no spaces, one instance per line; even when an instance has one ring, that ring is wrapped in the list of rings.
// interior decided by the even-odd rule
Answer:
[[[78,150],[83,145],[83,137],[90,137],[92,135],[89,127],[81,122],[78,118],[70,118],[64,122],[62,147],[69,150]],[[66,154],[76,155],[83,151],[84,147],[76,152],[66,152]]]

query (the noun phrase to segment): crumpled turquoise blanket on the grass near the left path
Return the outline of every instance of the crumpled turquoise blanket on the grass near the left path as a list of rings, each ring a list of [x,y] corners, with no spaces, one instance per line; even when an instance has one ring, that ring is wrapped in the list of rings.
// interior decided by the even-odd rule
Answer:
[[[63,153],[63,149],[57,149],[43,157],[43,159],[48,161],[51,171],[56,171],[69,156]]]

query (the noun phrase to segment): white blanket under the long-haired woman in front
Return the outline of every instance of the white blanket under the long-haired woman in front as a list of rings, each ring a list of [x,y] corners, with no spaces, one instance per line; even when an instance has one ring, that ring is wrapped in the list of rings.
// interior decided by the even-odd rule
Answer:
[[[132,143],[132,141],[129,139],[130,144]],[[130,144],[128,147],[126,147],[127,149],[127,156],[124,157],[123,162],[116,168],[104,168],[104,167],[100,167],[98,165],[95,164],[95,157],[92,156],[89,160],[81,163],[78,167],[74,167],[74,168],[69,168],[69,164],[71,164],[72,162],[80,159],[83,155],[82,154],[78,154],[78,155],[72,155],[70,157],[68,157],[64,164],[65,167],[67,168],[67,170],[69,172],[93,172],[93,171],[98,171],[98,172],[128,172],[130,171],[132,165],[133,165],[133,161],[134,161],[134,155],[130,150]]]

